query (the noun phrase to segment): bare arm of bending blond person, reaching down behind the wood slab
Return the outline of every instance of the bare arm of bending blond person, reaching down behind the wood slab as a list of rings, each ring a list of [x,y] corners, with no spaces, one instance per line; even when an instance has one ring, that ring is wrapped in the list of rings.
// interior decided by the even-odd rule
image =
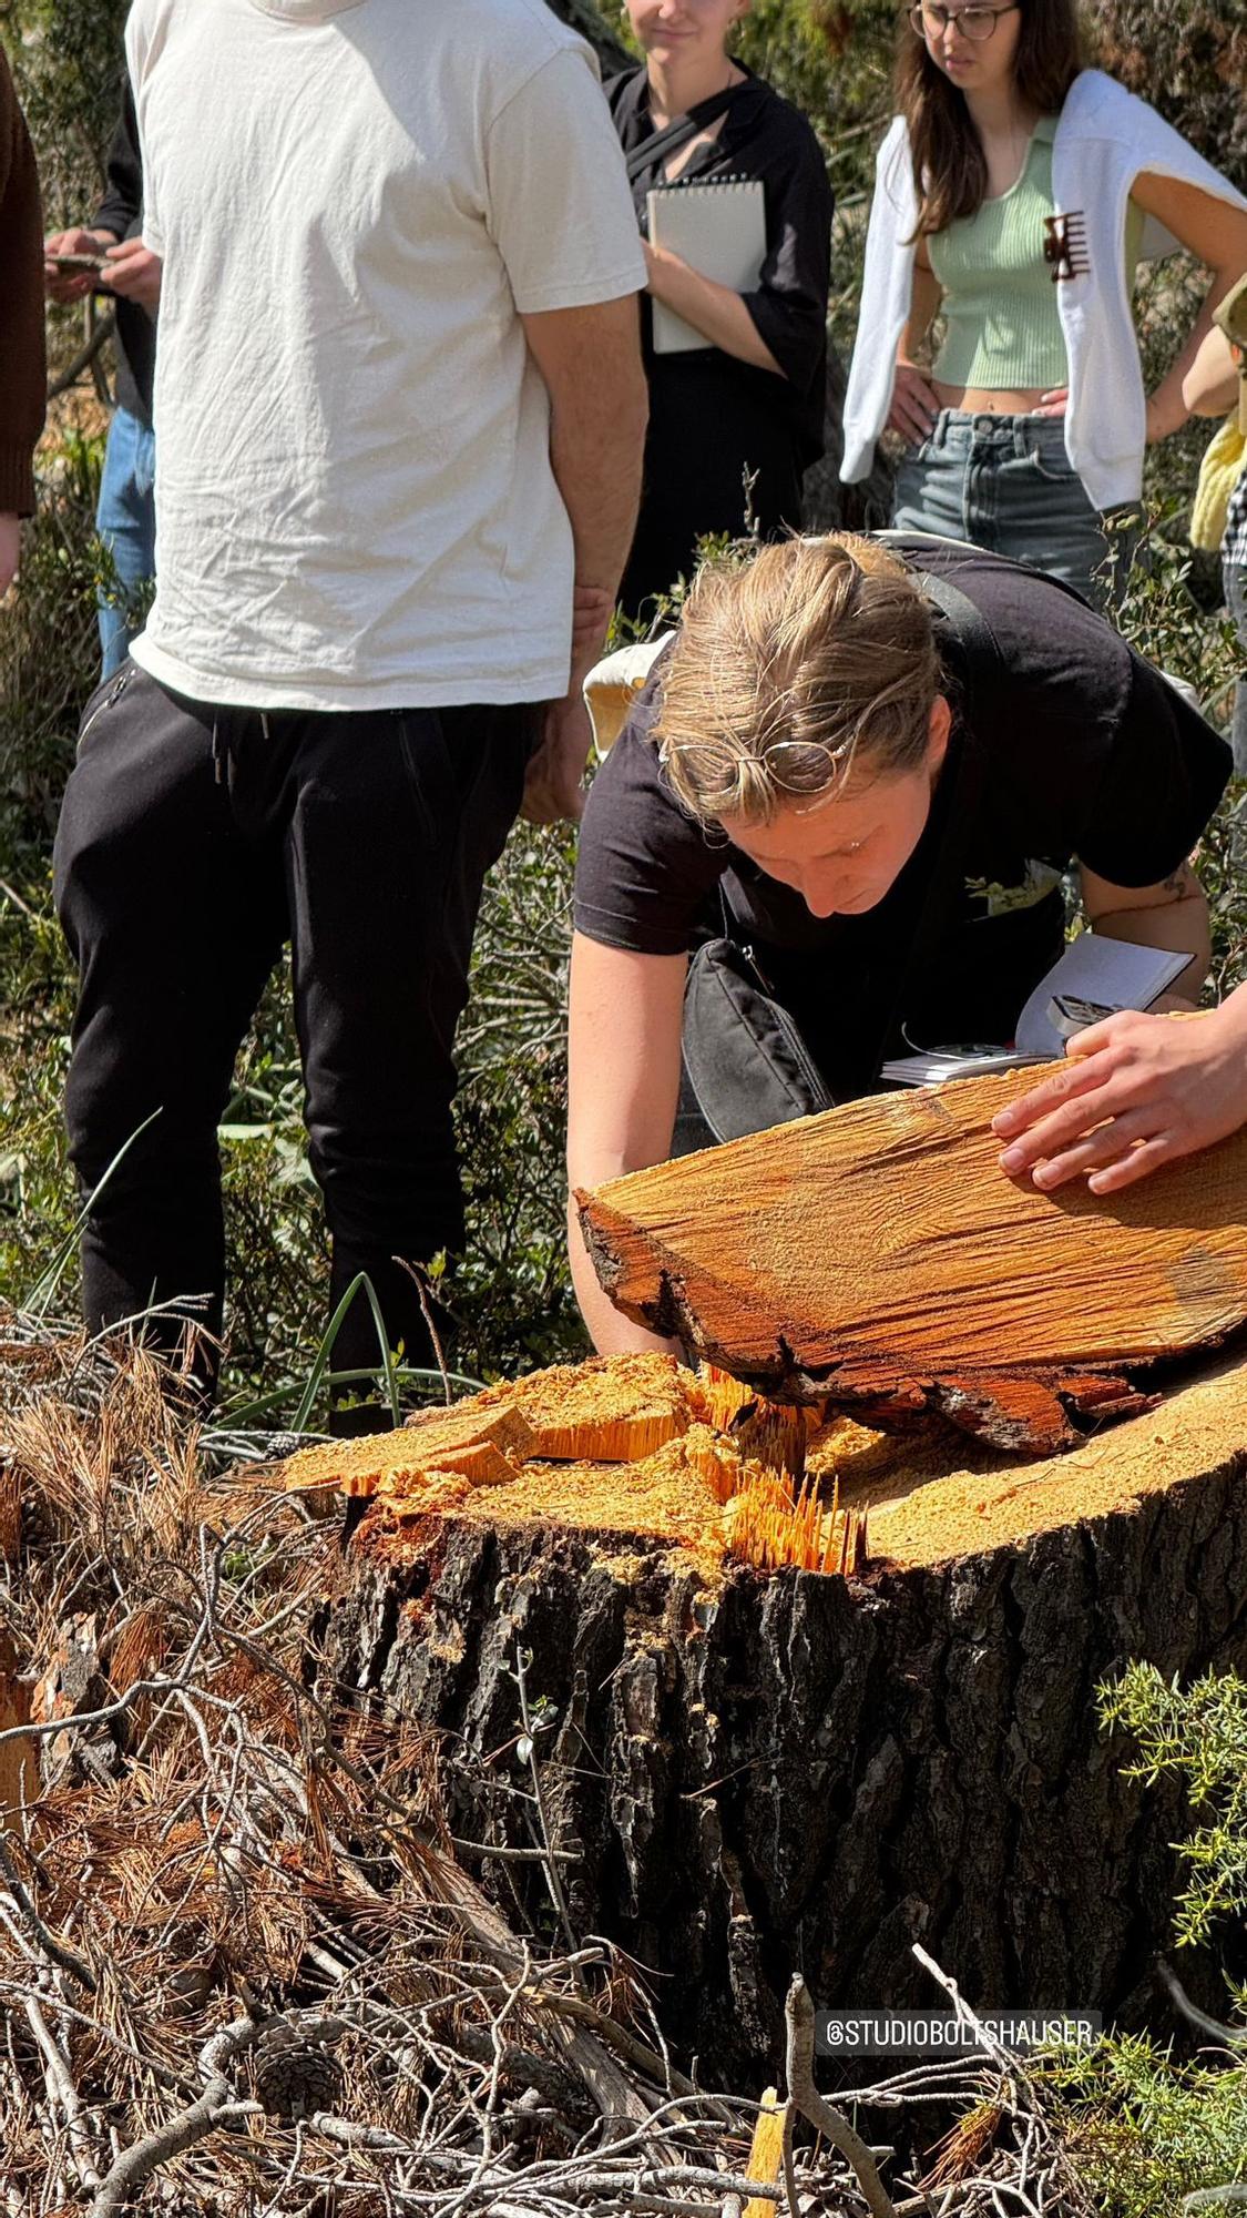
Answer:
[[[666,1162],[679,1102],[686,956],[637,956],[572,938],[568,1009],[568,1189]],[[568,1200],[568,1260],[595,1349],[668,1349],[604,1295]]]

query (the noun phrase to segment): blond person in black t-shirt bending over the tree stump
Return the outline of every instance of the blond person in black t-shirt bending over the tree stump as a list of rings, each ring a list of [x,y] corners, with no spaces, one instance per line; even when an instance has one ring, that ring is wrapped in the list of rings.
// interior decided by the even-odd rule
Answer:
[[[872,1093],[908,1047],[1012,1040],[1072,867],[1094,932],[1189,958],[1194,1007],[1187,856],[1227,770],[1205,719],[1021,563],[837,532],[703,568],[581,825],[572,1189]],[[575,1222],[570,1258],[597,1346],[652,1346]]]

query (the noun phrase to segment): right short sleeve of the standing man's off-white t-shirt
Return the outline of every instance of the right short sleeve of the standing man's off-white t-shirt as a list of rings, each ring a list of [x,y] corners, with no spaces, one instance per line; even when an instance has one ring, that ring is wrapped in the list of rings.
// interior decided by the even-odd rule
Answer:
[[[495,115],[488,228],[521,315],[646,286],[624,153],[588,49],[564,47]]]

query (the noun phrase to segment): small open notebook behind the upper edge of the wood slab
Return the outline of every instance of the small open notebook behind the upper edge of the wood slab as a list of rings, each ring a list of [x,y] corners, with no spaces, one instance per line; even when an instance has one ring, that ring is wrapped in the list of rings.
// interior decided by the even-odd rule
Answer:
[[[1081,932],[1038,980],[1023,1014],[1014,1047],[930,1047],[919,1056],[896,1056],[879,1071],[896,1087],[932,1087],[945,1078],[976,1078],[981,1071],[1016,1071],[1023,1062],[1052,1062],[1065,1038],[1052,1020],[1052,996],[1101,1003],[1105,1009],[1147,1009],[1174,985],[1189,956],[1167,947],[1136,947],[1107,934]]]

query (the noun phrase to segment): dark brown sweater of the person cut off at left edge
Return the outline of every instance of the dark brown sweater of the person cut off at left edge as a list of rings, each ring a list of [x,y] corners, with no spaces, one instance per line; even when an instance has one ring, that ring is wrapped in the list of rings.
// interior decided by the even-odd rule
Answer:
[[[36,153],[0,49],[0,515],[36,506],[44,426],[42,211]]]

